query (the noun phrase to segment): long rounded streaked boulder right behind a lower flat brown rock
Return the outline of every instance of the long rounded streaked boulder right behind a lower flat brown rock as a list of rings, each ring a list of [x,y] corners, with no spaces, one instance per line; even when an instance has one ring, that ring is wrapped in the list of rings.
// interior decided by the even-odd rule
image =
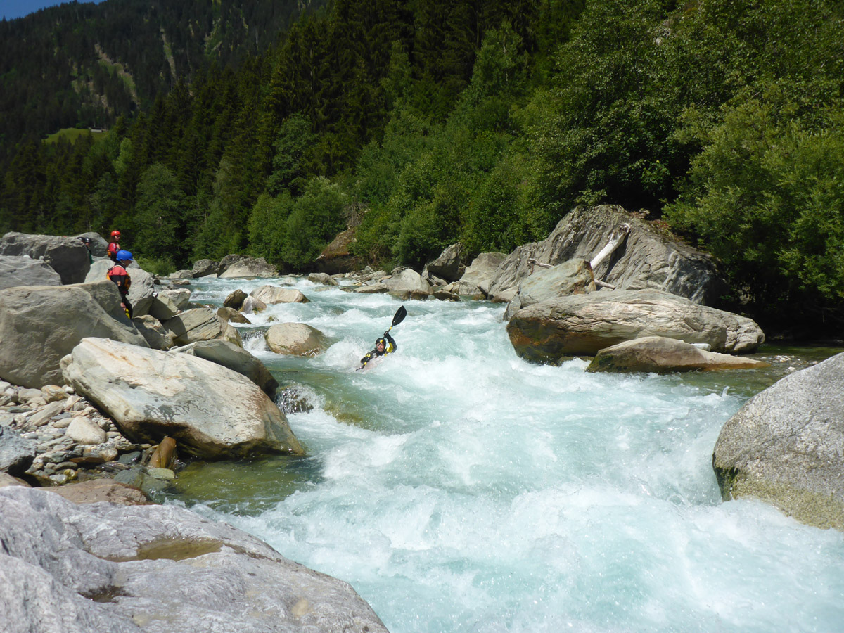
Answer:
[[[755,322],[659,290],[614,290],[557,297],[517,311],[507,324],[517,354],[555,363],[645,336],[749,354],[765,341]]]

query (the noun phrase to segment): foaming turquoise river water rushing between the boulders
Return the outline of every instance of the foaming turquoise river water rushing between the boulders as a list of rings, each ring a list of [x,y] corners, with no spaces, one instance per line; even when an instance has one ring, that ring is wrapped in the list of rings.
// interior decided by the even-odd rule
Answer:
[[[197,280],[219,305],[265,281]],[[813,357],[771,370],[585,373],[517,358],[504,306],[408,301],[396,354],[355,372],[402,305],[305,280],[308,304],[241,327],[299,403],[308,457],[193,464],[170,502],[257,535],[350,582],[392,633],[844,630],[844,534],[754,500],[724,503],[723,423]],[[272,322],[333,342],[269,352]]]

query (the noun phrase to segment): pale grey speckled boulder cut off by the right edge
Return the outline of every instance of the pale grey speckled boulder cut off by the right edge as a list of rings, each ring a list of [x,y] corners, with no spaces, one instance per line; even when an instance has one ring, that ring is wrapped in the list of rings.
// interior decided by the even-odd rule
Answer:
[[[844,354],[786,376],[728,419],[712,455],[724,499],[766,500],[844,530]]]

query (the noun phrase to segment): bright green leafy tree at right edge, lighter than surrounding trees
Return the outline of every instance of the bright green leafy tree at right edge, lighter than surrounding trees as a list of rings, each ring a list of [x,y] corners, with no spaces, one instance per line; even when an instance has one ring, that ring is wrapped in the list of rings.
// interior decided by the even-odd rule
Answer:
[[[787,88],[736,100],[667,207],[769,317],[844,299],[842,103],[818,110]]]

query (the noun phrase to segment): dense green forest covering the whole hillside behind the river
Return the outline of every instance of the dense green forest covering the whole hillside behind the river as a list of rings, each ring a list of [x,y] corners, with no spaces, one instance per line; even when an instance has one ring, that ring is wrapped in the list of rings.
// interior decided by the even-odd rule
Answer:
[[[304,270],[354,226],[361,261],[419,267],[595,203],[711,252],[724,307],[840,338],[844,4],[106,0],[0,22],[0,232]]]

